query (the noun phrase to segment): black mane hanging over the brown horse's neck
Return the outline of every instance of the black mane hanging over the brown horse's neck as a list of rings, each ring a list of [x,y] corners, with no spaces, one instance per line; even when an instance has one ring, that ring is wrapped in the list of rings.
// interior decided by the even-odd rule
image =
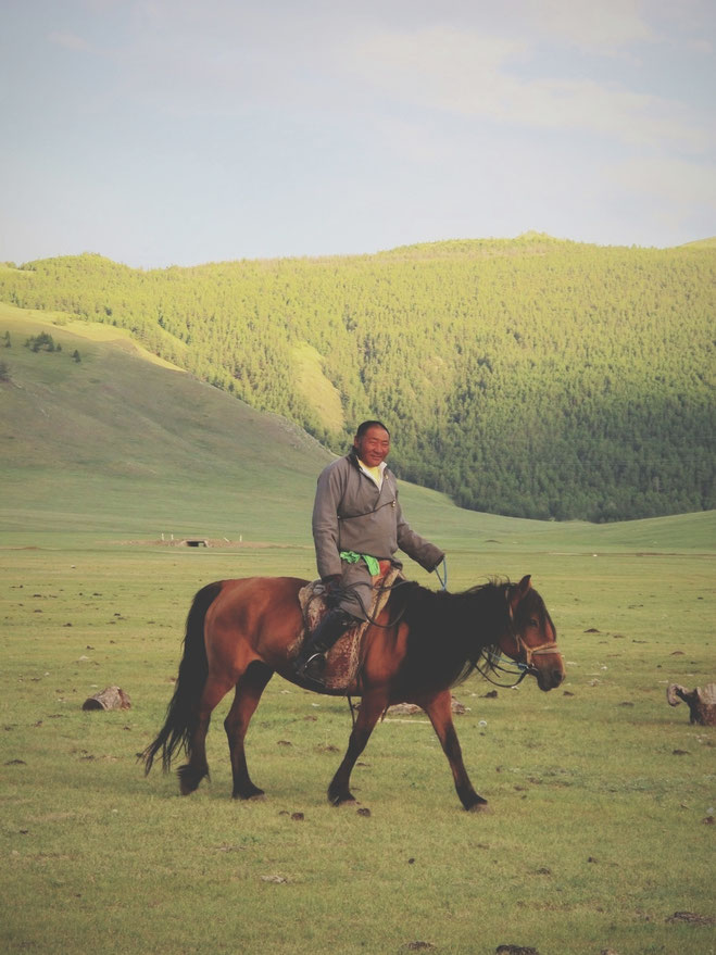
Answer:
[[[407,624],[405,682],[454,687],[475,670],[488,675],[500,655],[507,614],[507,580],[490,580],[460,593],[414,581],[393,589],[390,619]]]

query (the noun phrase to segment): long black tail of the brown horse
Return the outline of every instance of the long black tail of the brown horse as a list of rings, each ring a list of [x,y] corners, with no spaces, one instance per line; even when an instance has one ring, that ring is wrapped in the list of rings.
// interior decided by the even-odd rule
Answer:
[[[162,768],[165,772],[172,764],[176,750],[184,747],[191,756],[191,734],[196,728],[197,705],[209,674],[206,646],[204,645],[204,617],[221,589],[221,581],[208,583],[193,599],[187,616],[179,676],[174,689],[174,696],[166,708],[164,726],[154,742],[147,746],[139,756],[145,764],[145,775],[152,768],[154,757],[160,751],[162,753]]]

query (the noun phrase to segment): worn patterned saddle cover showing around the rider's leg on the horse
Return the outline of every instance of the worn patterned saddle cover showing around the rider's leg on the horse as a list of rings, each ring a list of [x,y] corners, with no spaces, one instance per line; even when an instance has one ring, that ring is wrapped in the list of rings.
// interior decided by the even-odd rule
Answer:
[[[375,620],[385,607],[390,596],[390,588],[398,578],[403,575],[399,567],[390,561],[380,562],[380,574],[373,577],[373,598],[368,617]],[[299,633],[294,643],[289,648],[289,656],[293,657],[301,649],[301,644],[318,626],[326,614],[325,587],[321,580],[312,580],[299,591],[299,603],[303,613],[303,630]],[[354,627],[350,627],[326,655],[326,669],[323,675],[323,683],[327,690],[347,690],[359,671],[363,654],[363,634],[369,627],[368,620],[357,620]]]

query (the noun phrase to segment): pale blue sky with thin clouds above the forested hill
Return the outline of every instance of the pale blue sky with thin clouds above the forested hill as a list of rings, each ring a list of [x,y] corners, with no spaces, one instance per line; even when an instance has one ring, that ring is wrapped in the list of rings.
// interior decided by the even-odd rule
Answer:
[[[2,0],[0,261],[716,235],[714,0]]]

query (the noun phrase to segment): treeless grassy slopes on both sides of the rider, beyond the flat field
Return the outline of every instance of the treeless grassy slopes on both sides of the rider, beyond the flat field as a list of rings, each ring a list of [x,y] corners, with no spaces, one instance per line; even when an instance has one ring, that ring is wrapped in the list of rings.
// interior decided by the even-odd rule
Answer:
[[[312,549],[315,479],[330,454],[290,422],[158,363],[112,326],[0,305],[5,332],[5,546],[156,541],[166,532]],[[53,351],[24,347],[41,336]],[[401,500],[452,554],[706,552],[716,540],[716,512],[594,527],[463,511],[405,482]]]

